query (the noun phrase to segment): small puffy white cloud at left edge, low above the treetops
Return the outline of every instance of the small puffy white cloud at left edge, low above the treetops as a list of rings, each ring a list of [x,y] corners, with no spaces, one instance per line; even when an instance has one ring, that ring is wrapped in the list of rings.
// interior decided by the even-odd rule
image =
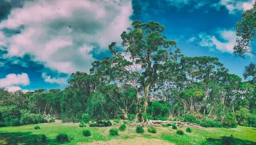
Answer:
[[[26,73],[22,74],[8,74],[5,78],[0,79],[0,87],[10,87],[13,85],[29,85],[29,76]]]

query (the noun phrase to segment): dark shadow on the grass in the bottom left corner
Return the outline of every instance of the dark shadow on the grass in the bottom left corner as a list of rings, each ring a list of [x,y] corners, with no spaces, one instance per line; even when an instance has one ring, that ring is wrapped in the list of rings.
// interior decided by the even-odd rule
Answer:
[[[42,134],[32,134],[32,132],[0,132],[1,145],[61,145],[53,139],[48,139],[46,143],[41,143]]]

